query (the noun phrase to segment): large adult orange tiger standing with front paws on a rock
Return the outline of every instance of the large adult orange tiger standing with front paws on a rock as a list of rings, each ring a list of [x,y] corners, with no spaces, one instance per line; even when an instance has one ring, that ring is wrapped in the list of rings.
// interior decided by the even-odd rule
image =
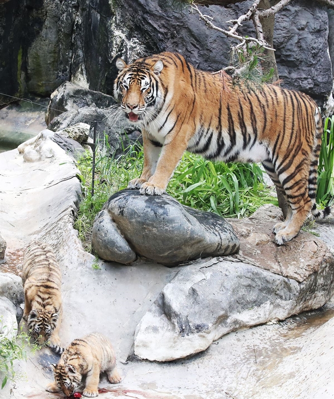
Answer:
[[[129,188],[161,195],[182,154],[230,162],[262,162],[288,203],[273,232],[277,244],[295,237],[309,212],[323,218],[315,194],[322,136],[316,103],[301,92],[265,85],[233,87],[227,75],[195,69],[180,54],[161,53],[119,70],[114,96],[142,129],[144,164]]]

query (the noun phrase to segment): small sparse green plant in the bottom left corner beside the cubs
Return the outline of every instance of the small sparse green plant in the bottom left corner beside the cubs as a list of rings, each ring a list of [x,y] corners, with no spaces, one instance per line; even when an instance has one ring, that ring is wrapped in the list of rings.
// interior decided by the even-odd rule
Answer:
[[[0,332],[5,330],[0,317]],[[8,338],[5,334],[0,334],[0,383],[1,389],[8,381],[15,381],[24,378],[25,375],[15,371],[14,362],[16,360],[27,360],[27,349],[34,353],[37,345],[29,343],[27,333],[20,332],[14,338]]]

